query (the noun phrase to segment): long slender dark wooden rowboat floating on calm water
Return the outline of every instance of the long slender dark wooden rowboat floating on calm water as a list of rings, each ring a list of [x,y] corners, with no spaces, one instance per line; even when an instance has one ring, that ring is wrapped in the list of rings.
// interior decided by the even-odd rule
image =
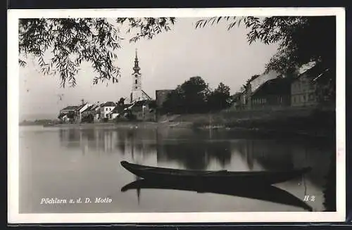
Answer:
[[[165,167],[151,167],[132,164],[127,161],[121,162],[122,167],[132,172],[137,177],[161,182],[180,182],[190,184],[277,184],[289,181],[311,170],[305,167],[300,170],[287,171],[252,171],[252,172],[230,172],[220,171],[197,171],[197,170],[176,170]]]

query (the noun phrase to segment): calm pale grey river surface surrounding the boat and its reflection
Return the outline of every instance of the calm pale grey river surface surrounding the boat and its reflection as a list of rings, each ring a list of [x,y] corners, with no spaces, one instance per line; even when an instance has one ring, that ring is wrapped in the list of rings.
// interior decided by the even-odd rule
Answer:
[[[188,170],[288,170],[310,166],[313,170],[305,177],[275,186],[301,200],[313,196],[306,203],[313,211],[322,211],[325,177],[335,149],[332,141],[306,136],[175,128],[28,126],[20,127],[19,137],[20,213],[307,211],[275,197],[260,200],[175,189],[121,191],[137,179],[120,165],[121,160]],[[229,190],[236,191],[236,186],[229,185]],[[42,203],[42,199],[51,198],[67,203]],[[79,198],[83,203],[69,203]],[[85,198],[106,198],[108,203],[84,203]]]

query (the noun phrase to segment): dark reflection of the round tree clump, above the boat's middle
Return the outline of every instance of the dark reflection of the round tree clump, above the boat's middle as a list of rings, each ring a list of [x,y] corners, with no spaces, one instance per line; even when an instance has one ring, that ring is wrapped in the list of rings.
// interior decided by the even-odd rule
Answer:
[[[212,160],[222,167],[231,160],[228,141],[182,141],[164,143],[158,148],[159,161],[176,161],[189,170],[205,170]]]

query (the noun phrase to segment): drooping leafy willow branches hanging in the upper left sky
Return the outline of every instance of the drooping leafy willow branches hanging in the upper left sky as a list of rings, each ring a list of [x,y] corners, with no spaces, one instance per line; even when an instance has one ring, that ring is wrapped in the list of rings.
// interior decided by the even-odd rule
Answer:
[[[19,63],[24,66],[27,56],[34,57],[44,75],[60,75],[62,87],[75,86],[84,61],[96,72],[94,84],[118,82],[120,70],[113,62],[124,39],[120,27],[128,24],[127,33],[133,33],[130,42],[135,42],[168,31],[174,23],[175,18],[21,18]]]

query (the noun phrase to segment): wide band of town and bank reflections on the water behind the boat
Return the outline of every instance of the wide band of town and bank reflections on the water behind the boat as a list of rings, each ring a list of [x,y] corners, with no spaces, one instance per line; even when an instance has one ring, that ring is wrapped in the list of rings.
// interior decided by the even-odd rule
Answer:
[[[83,155],[119,154],[137,164],[152,156],[156,160],[147,165],[188,170],[292,170],[310,166],[313,170],[305,179],[321,191],[327,184],[329,162],[336,162],[333,141],[306,137],[241,138],[238,133],[214,132],[209,136],[208,132],[191,129],[101,128],[60,129],[59,139],[61,146],[80,149]]]

